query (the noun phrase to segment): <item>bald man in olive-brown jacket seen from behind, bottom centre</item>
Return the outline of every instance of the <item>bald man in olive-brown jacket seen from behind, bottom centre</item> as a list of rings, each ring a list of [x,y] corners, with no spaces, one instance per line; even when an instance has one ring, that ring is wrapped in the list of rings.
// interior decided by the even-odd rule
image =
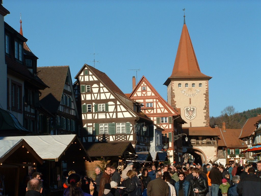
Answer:
[[[148,196],[169,196],[169,185],[162,180],[162,172],[156,173],[156,179],[149,182],[147,186]]]

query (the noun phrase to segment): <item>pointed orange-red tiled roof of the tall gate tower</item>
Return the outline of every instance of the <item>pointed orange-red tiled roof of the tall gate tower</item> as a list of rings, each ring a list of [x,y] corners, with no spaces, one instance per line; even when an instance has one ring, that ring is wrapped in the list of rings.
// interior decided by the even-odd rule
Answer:
[[[184,24],[180,36],[179,47],[171,76],[164,83],[168,85],[171,79],[211,79],[212,77],[201,73],[197,57],[188,33],[187,25]]]

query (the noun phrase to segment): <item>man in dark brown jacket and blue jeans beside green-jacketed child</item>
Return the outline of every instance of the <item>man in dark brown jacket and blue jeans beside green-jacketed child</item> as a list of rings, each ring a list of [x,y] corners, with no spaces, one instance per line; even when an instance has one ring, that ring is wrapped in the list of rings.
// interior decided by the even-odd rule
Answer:
[[[218,196],[219,185],[222,184],[222,173],[217,167],[218,164],[213,163],[209,172],[212,196]]]

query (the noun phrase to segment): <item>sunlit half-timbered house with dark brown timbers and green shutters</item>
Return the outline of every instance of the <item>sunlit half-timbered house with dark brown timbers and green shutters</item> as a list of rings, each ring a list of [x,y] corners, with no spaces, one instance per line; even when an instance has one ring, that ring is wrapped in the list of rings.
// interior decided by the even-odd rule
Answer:
[[[103,72],[84,65],[75,76],[75,95],[81,107],[80,138],[90,143],[131,142],[137,151],[150,150],[153,121]],[[112,148],[107,149],[111,151]]]

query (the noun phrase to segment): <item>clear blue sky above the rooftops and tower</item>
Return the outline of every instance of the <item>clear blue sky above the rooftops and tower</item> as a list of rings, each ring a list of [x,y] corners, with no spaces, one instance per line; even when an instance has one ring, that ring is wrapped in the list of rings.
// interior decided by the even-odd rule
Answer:
[[[159,94],[170,76],[185,8],[201,72],[209,81],[210,116],[228,105],[260,107],[261,1],[3,0],[5,21],[23,35],[38,66],[69,65],[73,77],[86,63],[105,72],[124,92],[140,69]],[[75,79],[73,79],[73,82]]]

